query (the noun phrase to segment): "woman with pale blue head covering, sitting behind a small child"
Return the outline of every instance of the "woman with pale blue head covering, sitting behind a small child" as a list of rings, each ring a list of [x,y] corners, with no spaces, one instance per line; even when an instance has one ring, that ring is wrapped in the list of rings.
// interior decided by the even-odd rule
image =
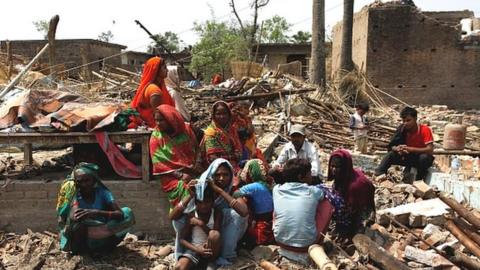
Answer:
[[[195,210],[192,198],[203,200],[204,190],[210,186],[215,192],[215,211],[222,213],[222,248],[218,265],[228,265],[237,256],[235,250],[237,242],[242,238],[248,226],[248,206],[243,199],[232,197],[233,167],[228,160],[219,158],[214,160],[198,180],[189,183],[190,194],[183,198],[170,212],[170,219],[177,233],[175,240],[175,257],[178,260],[185,252],[179,241],[179,233],[186,223],[186,214]]]

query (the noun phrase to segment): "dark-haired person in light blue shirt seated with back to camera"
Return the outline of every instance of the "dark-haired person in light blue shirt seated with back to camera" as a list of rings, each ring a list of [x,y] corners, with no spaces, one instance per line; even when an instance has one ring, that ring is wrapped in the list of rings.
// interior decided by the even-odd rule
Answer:
[[[330,223],[332,206],[311,186],[310,163],[290,159],[283,168],[285,183],[273,187],[273,234],[280,255],[308,265],[308,247],[320,243]]]

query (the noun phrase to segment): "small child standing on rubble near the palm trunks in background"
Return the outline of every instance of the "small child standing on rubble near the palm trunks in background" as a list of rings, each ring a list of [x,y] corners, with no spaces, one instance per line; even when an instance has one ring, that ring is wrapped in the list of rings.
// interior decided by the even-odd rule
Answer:
[[[367,153],[368,147],[368,121],[365,114],[370,109],[367,103],[359,103],[355,106],[355,113],[350,116],[350,129],[353,131],[355,140],[355,151],[362,154]]]

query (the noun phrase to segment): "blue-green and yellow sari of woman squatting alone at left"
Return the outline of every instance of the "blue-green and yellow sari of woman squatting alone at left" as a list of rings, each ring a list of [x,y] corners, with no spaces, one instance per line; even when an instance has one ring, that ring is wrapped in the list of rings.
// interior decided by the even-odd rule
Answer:
[[[64,251],[73,251],[76,253],[79,251],[79,244],[73,242],[73,234],[80,227],[80,225],[86,225],[87,227],[106,226],[107,230],[112,232],[112,236],[108,238],[87,238],[87,245],[90,251],[100,251],[103,249],[113,248],[119,244],[125,235],[130,231],[131,227],[135,224],[135,217],[133,212],[128,207],[121,208],[123,213],[123,219],[118,220],[92,220],[85,219],[82,221],[74,221],[71,217],[71,210],[74,205],[78,205],[77,199],[79,198],[79,190],[77,189],[74,181],[75,171],[81,171],[84,174],[88,174],[94,177],[96,180],[95,190],[104,189],[107,192],[110,190],[102,183],[98,176],[98,166],[93,163],[80,163],[77,165],[72,173],[65,179],[60,187],[57,198],[57,216],[58,225],[60,228],[60,249]],[[112,197],[113,199],[113,197]],[[104,209],[100,209],[104,210]]]

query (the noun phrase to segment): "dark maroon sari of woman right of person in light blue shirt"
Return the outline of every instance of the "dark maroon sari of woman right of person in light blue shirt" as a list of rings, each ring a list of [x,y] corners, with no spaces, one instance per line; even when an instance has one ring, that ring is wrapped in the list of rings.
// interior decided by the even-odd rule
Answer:
[[[341,221],[342,233],[353,236],[368,215],[375,211],[375,187],[360,169],[353,168],[352,156],[347,150],[334,151],[330,155],[328,168],[333,157],[342,159],[341,175],[339,179],[334,179],[329,169],[328,179],[334,179],[333,191],[344,201],[344,205],[337,204],[334,215],[338,221]],[[350,220],[350,224],[344,222],[345,220]]]

